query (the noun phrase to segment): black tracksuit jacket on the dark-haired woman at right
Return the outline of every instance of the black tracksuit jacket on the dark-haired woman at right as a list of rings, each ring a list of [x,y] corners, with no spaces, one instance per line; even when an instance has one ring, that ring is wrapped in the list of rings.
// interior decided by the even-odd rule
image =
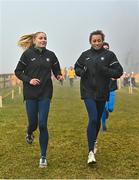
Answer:
[[[106,101],[109,97],[110,78],[123,74],[116,55],[109,50],[93,48],[83,52],[74,66],[75,73],[81,77],[81,98]]]

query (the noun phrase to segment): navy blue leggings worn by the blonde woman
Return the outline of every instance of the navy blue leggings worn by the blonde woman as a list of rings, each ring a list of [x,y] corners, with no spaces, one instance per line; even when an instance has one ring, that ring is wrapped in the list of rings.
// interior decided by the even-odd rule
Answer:
[[[48,145],[47,119],[50,108],[50,99],[26,100],[26,111],[28,116],[27,133],[32,134],[39,124],[39,143],[41,156],[46,157]]]

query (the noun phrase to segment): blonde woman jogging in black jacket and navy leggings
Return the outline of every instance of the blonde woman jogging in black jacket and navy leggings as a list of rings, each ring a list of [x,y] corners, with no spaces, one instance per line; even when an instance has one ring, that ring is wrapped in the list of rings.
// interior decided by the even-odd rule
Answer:
[[[32,144],[33,132],[39,125],[41,149],[39,166],[42,168],[47,166],[47,121],[53,93],[51,70],[57,80],[62,80],[60,65],[54,52],[46,49],[47,36],[44,32],[24,35],[18,45],[25,50],[17,64],[15,74],[23,81],[23,96],[28,116],[26,141]]]

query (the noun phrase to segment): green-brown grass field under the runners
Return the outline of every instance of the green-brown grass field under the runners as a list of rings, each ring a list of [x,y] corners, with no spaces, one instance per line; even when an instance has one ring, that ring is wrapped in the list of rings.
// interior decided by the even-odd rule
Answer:
[[[97,164],[87,162],[87,113],[79,82],[54,85],[49,113],[48,167],[39,169],[38,131],[25,142],[27,118],[21,95],[7,97],[0,109],[0,178],[12,179],[135,179],[139,178],[139,89],[117,91],[115,111],[100,131]]]

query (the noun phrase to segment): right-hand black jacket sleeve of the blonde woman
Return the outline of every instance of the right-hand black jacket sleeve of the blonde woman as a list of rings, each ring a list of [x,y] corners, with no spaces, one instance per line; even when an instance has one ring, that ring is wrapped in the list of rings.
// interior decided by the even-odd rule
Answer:
[[[52,71],[53,71],[54,76],[57,78],[58,75],[61,75],[60,64],[54,53],[53,53],[52,59],[53,59]]]

